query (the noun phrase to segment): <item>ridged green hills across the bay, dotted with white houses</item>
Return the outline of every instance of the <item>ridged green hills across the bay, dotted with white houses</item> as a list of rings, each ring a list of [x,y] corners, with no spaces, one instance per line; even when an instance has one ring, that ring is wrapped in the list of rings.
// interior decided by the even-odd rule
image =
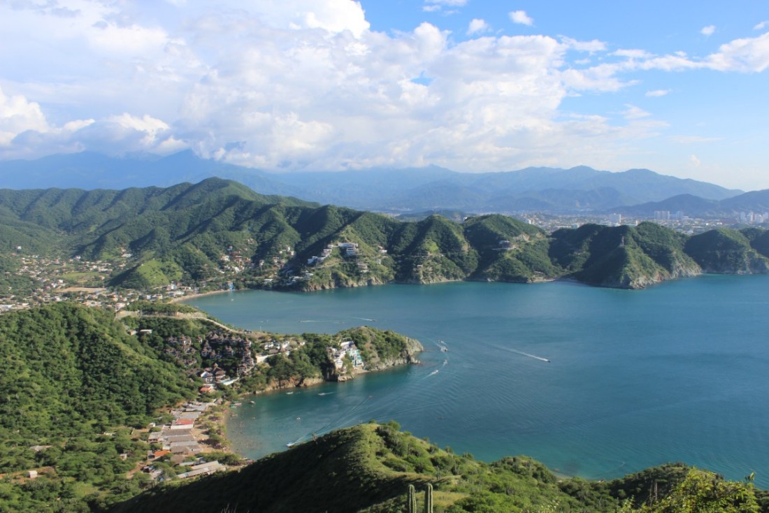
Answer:
[[[171,281],[315,290],[555,278],[643,288],[702,271],[769,271],[769,239],[762,231],[748,237],[721,229],[687,238],[641,223],[548,235],[503,215],[399,222],[258,195],[219,178],[124,191],[4,189],[0,205],[0,255],[10,258],[4,267],[18,267],[12,253],[118,261],[109,285],[140,290]],[[12,276],[7,272],[5,279]]]

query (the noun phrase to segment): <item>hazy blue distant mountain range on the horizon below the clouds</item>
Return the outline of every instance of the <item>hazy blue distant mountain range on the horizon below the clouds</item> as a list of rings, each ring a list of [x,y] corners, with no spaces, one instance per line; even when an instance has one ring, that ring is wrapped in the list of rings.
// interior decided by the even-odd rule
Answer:
[[[0,187],[109,188],[169,186],[218,176],[265,195],[365,210],[461,209],[468,212],[610,211],[650,215],[654,210],[687,215],[727,215],[769,210],[769,193],[723,188],[659,175],[647,169],[597,171],[526,168],[514,172],[459,173],[445,168],[368,169],[285,174],[198,158],[114,158],[92,152],[52,155],[35,161],[0,162]]]

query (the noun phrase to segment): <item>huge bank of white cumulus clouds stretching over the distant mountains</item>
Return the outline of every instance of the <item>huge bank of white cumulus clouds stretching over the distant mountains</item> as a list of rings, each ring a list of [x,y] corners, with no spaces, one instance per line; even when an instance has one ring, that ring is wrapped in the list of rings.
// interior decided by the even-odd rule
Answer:
[[[664,122],[632,104],[571,115],[564,98],[628,88],[647,70],[761,72],[769,62],[767,35],[693,58],[566,36],[455,41],[429,23],[376,32],[351,0],[165,0],[172,23],[125,2],[8,5],[0,30],[28,45],[0,48],[0,81],[12,92],[0,91],[2,158],[194,148],[266,169],[611,168]],[[533,25],[523,11],[510,16]],[[477,18],[467,32],[490,29]]]

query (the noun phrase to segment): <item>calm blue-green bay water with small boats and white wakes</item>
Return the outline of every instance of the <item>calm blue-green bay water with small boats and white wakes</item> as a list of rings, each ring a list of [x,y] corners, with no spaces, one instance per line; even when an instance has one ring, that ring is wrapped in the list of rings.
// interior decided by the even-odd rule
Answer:
[[[265,331],[368,324],[426,349],[422,365],[245,401],[228,435],[251,458],[393,418],[486,461],[531,455],[585,478],[684,461],[733,479],[755,471],[769,488],[767,288],[767,276],[644,291],[451,283],[244,291],[189,304]]]

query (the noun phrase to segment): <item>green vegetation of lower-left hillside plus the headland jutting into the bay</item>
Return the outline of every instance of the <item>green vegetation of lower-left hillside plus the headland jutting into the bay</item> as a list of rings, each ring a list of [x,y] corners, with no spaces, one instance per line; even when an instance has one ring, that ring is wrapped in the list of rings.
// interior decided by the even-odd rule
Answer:
[[[227,338],[242,347],[245,337],[257,352],[283,342],[292,349],[211,398],[338,379],[352,372],[329,359],[327,349],[341,341],[358,341],[376,368],[411,361],[421,350],[375,328],[233,333],[186,305],[136,301],[127,312],[118,322],[111,312],[65,301],[0,315],[0,358],[8,369],[0,374],[0,511],[103,511],[151,486],[147,474],[135,472],[150,448],[135,428],[156,421],[158,408],[196,397],[201,368],[238,375],[240,355],[201,355],[206,341]],[[127,327],[138,334],[128,335]],[[192,351],[175,351],[182,337]],[[220,428],[208,429],[212,445],[224,443]],[[174,475],[170,465],[158,465]],[[31,470],[38,478],[26,478]]]

